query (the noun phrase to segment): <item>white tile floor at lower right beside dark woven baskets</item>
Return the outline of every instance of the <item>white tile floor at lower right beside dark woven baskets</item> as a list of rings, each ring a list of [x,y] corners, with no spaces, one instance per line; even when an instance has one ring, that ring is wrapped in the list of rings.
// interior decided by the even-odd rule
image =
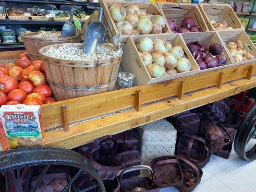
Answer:
[[[245,161],[234,150],[229,159],[212,155],[203,172],[202,180],[193,192],[256,192],[256,160]],[[179,191],[170,187],[160,192]]]

